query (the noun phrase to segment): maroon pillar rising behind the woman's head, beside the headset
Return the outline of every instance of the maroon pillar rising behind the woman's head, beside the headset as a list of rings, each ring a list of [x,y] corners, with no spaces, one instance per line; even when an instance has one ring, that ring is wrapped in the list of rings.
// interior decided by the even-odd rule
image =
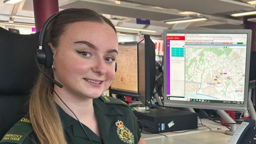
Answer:
[[[33,0],[36,31],[40,31],[44,22],[53,13],[59,11],[58,0]]]

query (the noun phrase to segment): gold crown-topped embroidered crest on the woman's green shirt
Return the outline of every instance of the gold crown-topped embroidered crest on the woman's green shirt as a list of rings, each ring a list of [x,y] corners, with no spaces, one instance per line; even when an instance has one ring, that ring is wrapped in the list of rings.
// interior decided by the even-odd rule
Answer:
[[[116,126],[117,126],[116,133],[119,139],[121,139],[125,143],[129,143],[129,144],[134,143],[134,137],[132,132],[127,127],[124,126],[124,123],[122,121],[118,120],[116,122]]]

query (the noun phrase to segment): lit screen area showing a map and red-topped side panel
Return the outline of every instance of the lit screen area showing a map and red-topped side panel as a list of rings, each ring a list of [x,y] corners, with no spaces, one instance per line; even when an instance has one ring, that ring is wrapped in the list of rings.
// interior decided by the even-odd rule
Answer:
[[[243,104],[247,34],[167,34],[166,40],[167,99]]]

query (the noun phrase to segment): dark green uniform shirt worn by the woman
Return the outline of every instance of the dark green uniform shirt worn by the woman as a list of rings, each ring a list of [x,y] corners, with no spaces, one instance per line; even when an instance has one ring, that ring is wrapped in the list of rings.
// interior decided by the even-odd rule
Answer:
[[[101,96],[93,100],[93,107],[101,138],[83,125],[93,143],[138,143],[141,135],[136,118],[129,106],[115,98]],[[60,107],[59,114],[68,143],[91,143],[76,119]],[[23,117],[4,135],[0,143],[35,144],[39,142],[31,127],[29,117]]]

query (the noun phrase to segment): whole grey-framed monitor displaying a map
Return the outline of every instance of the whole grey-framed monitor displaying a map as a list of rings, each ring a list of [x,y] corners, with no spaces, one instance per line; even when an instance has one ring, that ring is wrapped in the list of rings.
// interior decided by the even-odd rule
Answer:
[[[246,110],[251,30],[165,30],[164,105]]]

